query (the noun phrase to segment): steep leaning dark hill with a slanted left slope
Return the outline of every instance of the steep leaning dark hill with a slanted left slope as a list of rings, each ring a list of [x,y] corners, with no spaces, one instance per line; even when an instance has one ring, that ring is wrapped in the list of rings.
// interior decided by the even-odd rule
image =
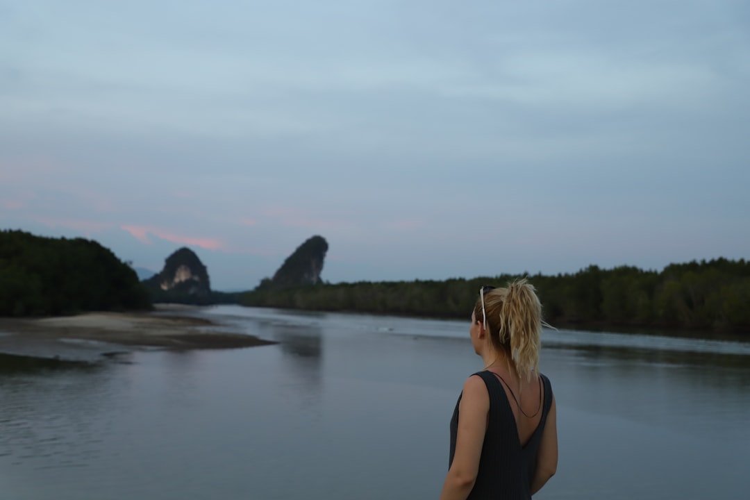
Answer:
[[[309,238],[287,257],[270,281],[266,280],[266,286],[281,288],[321,283],[320,273],[323,271],[326,252],[328,252],[326,238],[317,235]]]

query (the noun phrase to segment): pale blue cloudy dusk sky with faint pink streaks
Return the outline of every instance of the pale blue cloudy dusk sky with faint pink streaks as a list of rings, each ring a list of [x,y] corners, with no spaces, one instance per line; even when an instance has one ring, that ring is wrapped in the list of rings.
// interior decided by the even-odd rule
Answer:
[[[745,0],[0,0],[0,229],[251,289],[750,258]]]

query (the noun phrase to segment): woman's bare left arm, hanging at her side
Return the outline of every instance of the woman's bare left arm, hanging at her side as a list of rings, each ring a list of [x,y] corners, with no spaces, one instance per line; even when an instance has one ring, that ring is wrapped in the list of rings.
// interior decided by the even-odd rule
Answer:
[[[440,500],[465,500],[471,493],[479,470],[481,445],[487,431],[490,395],[478,376],[471,376],[463,384],[463,395],[458,406],[458,433],[453,463],[443,484]]]

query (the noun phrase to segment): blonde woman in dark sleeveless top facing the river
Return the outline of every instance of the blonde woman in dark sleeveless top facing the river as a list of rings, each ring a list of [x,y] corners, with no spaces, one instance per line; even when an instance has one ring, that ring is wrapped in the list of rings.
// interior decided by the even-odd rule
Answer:
[[[484,370],[458,397],[440,500],[526,500],[555,473],[555,400],[538,372],[541,325],[541,304],[526,280],[479,290],[469,337]]]

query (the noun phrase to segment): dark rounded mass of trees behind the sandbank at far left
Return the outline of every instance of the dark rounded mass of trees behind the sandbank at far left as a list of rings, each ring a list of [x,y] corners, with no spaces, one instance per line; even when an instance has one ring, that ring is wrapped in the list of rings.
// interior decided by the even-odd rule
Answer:
[[[0,231],[0,316],[151,309],[136,272],[83,238]]]

